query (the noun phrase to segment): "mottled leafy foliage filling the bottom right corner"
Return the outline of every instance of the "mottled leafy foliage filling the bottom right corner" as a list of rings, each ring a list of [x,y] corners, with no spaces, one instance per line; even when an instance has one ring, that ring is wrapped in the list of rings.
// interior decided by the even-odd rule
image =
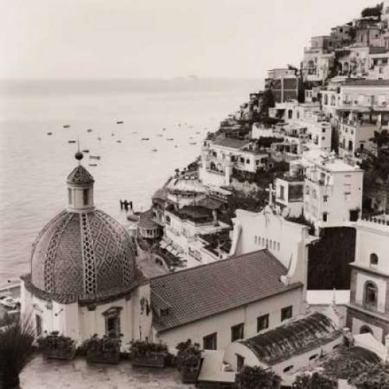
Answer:
[[[389,365],[368,364],[360,369],[356,378],[350,378],[349,383],[357,389],[389,389]]]

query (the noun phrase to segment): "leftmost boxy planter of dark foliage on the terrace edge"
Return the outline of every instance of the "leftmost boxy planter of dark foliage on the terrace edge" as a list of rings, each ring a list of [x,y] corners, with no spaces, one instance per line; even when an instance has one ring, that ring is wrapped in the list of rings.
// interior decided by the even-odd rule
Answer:
[[[76,355],[76,343],[70,337],[59,335],[59,331],[52,331],[49,335],[37,339],[40,350],[45,358],[66,359]]]

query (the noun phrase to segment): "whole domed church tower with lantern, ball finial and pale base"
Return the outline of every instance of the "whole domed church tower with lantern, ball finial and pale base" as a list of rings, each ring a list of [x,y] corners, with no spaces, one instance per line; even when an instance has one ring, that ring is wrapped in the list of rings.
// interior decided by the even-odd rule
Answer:
[[[22,315],[33,316],[37,335],[57,330],[79,342],[110,332],[124,334],[124,342],[150,336],[150,290],[134,241],[95,209],[86,168],[76,166],[66,182],[68,207],[40,232],[22,277]]]

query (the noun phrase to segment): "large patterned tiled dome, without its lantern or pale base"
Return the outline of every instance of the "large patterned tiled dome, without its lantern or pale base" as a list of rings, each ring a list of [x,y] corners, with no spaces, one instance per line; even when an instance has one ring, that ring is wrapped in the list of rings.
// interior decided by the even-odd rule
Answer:
[[[54,300],[64,295],[110,296],[135,278],[132,238],[100,210],[62,211],[43,228],[31,255],[33,286]]]

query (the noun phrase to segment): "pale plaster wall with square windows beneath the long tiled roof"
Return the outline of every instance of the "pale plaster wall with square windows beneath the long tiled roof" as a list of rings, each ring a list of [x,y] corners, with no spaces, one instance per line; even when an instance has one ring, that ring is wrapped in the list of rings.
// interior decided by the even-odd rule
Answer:
[[[252,337],[257,335],[257,317],[269,314],[269,328],[277,327],[281,323],[281,308],[293,306],[293,316],[300,312],[302,294],[302,287],[294,289],[263,301],[161,332],[158,338],[173,348],[186,339],[192,339],[192,342],[198,342],[202,346],[204,336],[217,332],[217,349],[226,349],[231,344],[233,325],[244,323],[245,337]]]

